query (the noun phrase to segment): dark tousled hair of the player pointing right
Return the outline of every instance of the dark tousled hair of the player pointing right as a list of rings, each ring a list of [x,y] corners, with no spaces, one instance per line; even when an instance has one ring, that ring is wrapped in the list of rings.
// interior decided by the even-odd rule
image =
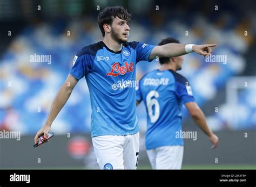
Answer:
[[[98,24],[100,31],[102,31],[103,37],[105,36],[103,25],[111,25],[113,23],[113,18],[116,17],[129,22],[131,19],[131,14],[128,13],[127,10],[125,10],[122,6],[107,6],[103,11],[99,12]]]

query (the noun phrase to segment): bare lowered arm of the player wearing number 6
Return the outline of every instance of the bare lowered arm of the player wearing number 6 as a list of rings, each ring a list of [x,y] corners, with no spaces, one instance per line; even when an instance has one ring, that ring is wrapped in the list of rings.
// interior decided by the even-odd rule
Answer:
[[[219,143],[218,136],[216,136],[208,127],[205,115],[203,111],[201,111],[197,103],[190,102],[186,103],[185,106],[187,107],[187,110],[190,112],[190,115],[193,118],[194,122],[201,128],[201,130],[208,136],[210,141],[213,143],[213,146],[211,148],[214,149],[215,147],[217,147]]]

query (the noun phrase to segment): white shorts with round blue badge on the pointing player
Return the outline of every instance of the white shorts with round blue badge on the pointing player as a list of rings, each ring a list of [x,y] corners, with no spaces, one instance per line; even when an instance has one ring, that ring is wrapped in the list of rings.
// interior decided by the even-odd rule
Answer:
[[[136,169],[139,159],[139,133],[103,135],[92,138],[100,169]]]

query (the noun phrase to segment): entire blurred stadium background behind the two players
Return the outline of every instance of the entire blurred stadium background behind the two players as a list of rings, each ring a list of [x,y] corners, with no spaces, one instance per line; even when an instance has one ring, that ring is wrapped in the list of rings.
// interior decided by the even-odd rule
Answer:
[[[183,169],[256,169],[256,15],[253,1],[4,1],[0,0],[0,131],[20,131],[21,141],[0,139],[0,168],[98,168],[90,138],[91,104],[86,81],[78,82],[51,131],[55,137],[39,148],[33,138],[41,128],[73,57],[85,45],[102,40],[99,10],[122,5],[132,13],[129,41],[157,45],[174,37],[183,44],[217,44],[213,54],[227,62],[207,63],[185,56],[180,74],[192,85],[208,125],[219,136],[211,150],[207,137],[184,108]],[[31,62],[50,55],[51,63]],[[137,80],[159,67],[140,62]],[[139,169],[150,169],[144,146],[145,107],[138,107]]]

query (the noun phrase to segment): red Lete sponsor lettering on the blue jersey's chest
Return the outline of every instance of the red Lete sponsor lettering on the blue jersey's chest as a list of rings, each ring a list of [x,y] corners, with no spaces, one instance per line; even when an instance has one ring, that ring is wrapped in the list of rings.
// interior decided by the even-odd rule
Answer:
[[[118,75],[124,75],[125,73],[129,73],[129,71],[133,71],[133,63],[130,64],[125,62],[124,66],[120,66],[118,62],[113,63],[112,69],[109,73],[106,73],[107,76],[113,76],[116,77]]]

